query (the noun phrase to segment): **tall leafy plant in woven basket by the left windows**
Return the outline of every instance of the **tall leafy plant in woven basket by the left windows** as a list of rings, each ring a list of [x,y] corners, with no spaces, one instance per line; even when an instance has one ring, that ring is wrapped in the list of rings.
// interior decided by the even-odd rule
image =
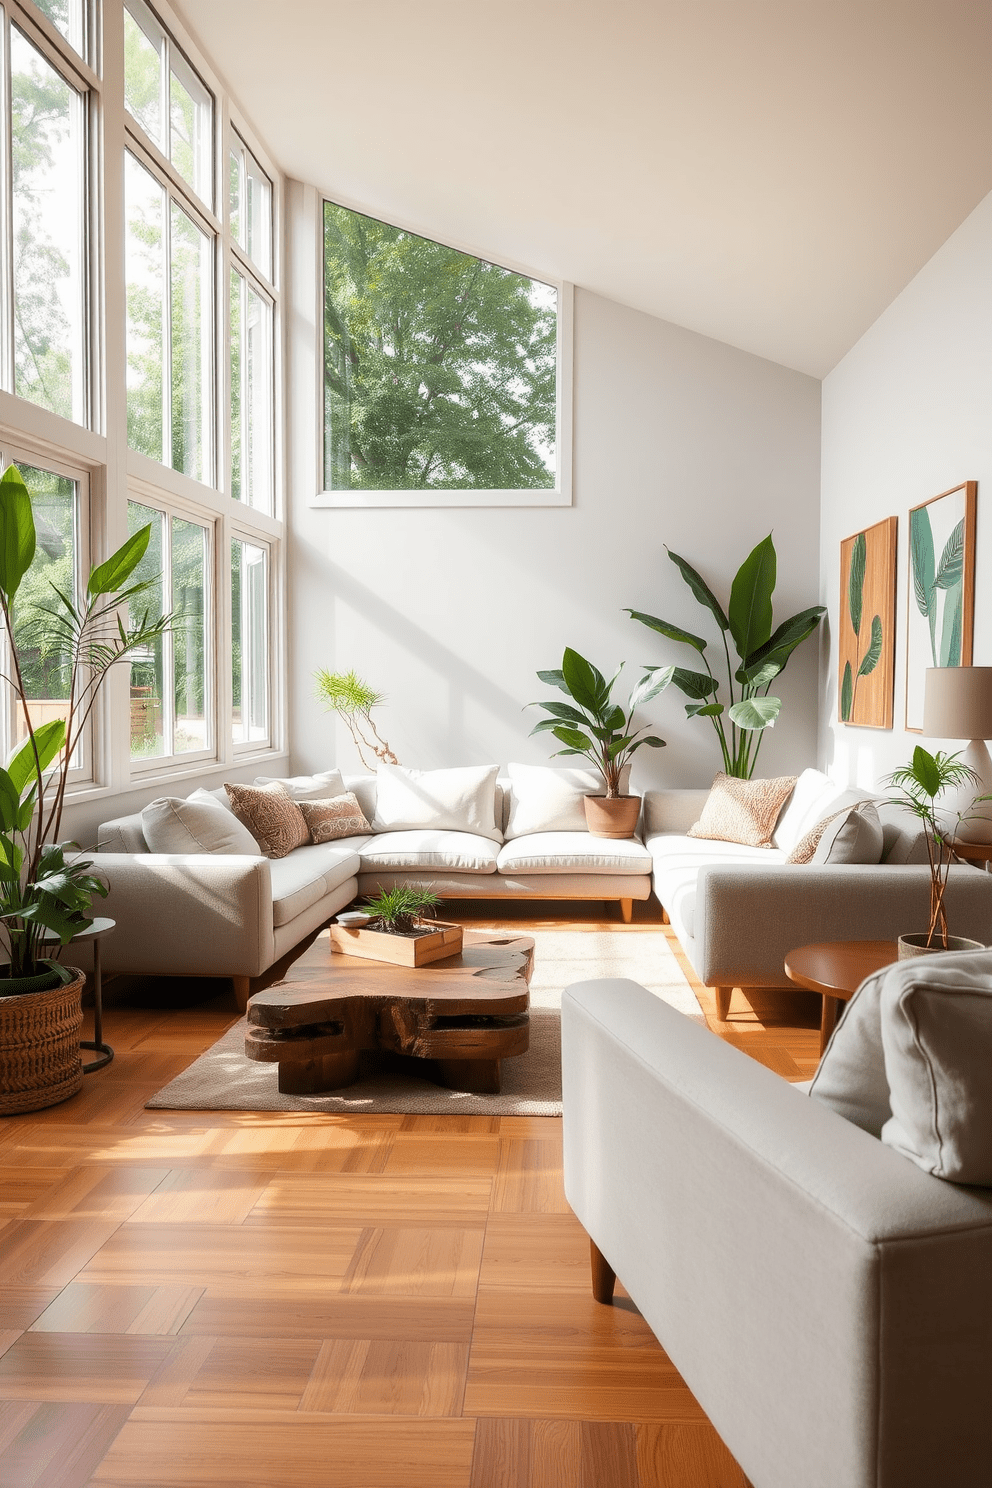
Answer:
[[[7,961],[0,964],[0,1113],[39,1110],[82,1083],[79,1025],[82,972],[43,954],[45,942],[68,945],[92,924],[94,894],[107,890],[92,862],[59,842],[68,771],[110,668],[149,646],[171,616],[125,622],[155,580],[128,586],[144,557],[141,528],[89,574],[85,598],[51,585],[48,604],[27,619],[13,601],[34,559],[31,497],[16,466],[0,478],[0,615],[7,635],[7,676],[27,737],[0,769],[0,924]],[[25,650],[58,658],[68,679],[65,716],[34,725],[25,684]],[[58,954],[58,952],[57,952]]]

